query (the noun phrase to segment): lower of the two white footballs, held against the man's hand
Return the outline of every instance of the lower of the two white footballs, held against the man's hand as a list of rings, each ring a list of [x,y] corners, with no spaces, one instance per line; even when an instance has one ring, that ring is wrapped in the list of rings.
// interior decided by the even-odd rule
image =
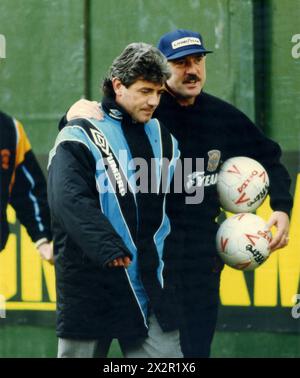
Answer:
[[[239,270],[254,270],[270,255],[272,233],[266,222],[251,213],[226,219],[217,232],[219,256],[225,264]]]

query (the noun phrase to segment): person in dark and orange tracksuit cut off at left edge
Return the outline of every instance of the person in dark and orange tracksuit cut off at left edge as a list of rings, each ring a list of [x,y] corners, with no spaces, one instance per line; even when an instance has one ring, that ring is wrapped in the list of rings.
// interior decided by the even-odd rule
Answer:
[[[0,111],[0,251],[9,225],[7,205],[15,209],[41,257],[52,263],[53,253],[47,186],[23,125]]]

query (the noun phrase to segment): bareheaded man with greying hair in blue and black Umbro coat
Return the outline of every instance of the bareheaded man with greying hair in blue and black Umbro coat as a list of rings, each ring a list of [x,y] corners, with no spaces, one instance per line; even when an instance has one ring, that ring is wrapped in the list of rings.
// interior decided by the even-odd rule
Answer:
[[[104,120],[69,122],[50,153],[59,357],[104,357],[112,338],[125,357],[182,357],[173,255],[164,253],[179,151],[151,119],[169,76],[159,50],[128,45],[104,81]],[[141,158],[156,172],[142,177],[143,192]]]

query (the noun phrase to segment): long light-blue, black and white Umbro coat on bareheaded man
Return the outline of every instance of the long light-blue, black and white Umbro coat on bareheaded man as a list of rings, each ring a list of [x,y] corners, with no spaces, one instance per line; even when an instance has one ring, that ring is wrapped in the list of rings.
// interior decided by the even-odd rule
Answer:
[[[149,168],[143,187],[136,158]],[[111,112],[60,131],[48,166],[59,337],[141,336],[149,309],[163,330],[177,328],[177,257],[164,255],[164,243],[178,158],[177,141],[156,119],[134,124]],[[107,267],[121,256],[131,258],[127,269]]]

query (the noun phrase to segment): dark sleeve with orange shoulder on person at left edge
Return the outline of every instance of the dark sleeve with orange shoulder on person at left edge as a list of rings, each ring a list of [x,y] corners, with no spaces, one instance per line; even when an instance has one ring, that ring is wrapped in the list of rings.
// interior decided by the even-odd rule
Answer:
[[[10,204],[31,239],[52,239],[47,184],[23,126],[16,121],[18,143],[15,173],[11,181]]]

